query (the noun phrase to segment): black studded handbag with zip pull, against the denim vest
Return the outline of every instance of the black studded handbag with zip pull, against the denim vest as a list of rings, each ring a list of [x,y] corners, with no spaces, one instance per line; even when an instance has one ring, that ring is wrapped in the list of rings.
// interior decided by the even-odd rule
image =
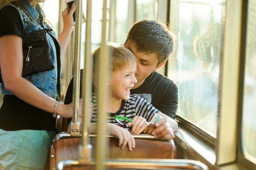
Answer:
[[[37,30],[23,35],[22,77],[54,69],[46,34],[51,29]],[[3,82],[0,70],[0,83]]]

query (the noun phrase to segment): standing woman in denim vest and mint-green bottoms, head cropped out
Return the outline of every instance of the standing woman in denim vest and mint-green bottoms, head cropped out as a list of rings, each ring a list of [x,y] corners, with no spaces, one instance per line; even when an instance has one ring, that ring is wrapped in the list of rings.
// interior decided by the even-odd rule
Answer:
[[[64,28],[57,39],[39,4],[44,1],[0,1],[0,79],[3,81],[0,89],[4,94],[0,109],[0,164],[3,170],[44,169],[52,138],[58,133],[56,114],[72,117],[72,104],[58,101],[60,59],[73,31],[75,5],[70,12],[67,9],[62,12]]]

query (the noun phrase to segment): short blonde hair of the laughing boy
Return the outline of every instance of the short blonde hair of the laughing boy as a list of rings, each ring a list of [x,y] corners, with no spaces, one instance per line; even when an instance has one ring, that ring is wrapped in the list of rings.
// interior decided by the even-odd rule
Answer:
[[[109,52],[109,63],[110,63],[110,71],[111,72],[119,72],[122,71],[125,66],[129,66],[131,63],[137,64],[137,58],[135,55],[125,47],[121,46],[113,46],[107,44],[107,49]],[[98,47],[93,52],[93,74],[96,73],[96,68],[99,66],[99,51],[100,47]]]

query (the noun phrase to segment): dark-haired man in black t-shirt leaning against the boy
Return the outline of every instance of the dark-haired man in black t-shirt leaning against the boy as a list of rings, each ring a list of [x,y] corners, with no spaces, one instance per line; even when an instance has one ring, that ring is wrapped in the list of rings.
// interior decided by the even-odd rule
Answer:
[[[124,44],[138,59],[134,84],[131,94],[137,94],[151,103],[155,108],[175,118],[178,107],[177,85],[156,71],[165,65],[174,50],[174,36],[166,25],[154,21],[143,20],[135,23],[128,32]],[[72,102],[73,81],[67,89],[64,104]],[[80,90],[81,92],[81,90]],[[81,93],[80,93],[81,94]],[[80,95],[81,96],[81,95]],[[149,127],[155,138],[169,138],[173,130],[166,118],[161,118],[156,127]]]

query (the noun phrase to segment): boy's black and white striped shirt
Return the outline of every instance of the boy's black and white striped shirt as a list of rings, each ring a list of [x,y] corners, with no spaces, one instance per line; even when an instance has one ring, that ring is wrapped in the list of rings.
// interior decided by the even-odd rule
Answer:
[[[93,117],[91,122],[97,122],[98,117],[98,104],[96,99],[96,93],[92,94],[93,103]],[[120,109],[115,113],[109,113],[107,116],[107,122],[115,123],[115,115],[119,115],[125,118],[133,119],[135,116],[141,116],[146,119],[147,122],[151,121],[151,118],[155,113],[160,112],[152,104],[148,103],[145,99],[137,95],[130,95],[128,101],[122,100]],[[119,119],[120,121],[128,124],[129,122],[124,119]]]

